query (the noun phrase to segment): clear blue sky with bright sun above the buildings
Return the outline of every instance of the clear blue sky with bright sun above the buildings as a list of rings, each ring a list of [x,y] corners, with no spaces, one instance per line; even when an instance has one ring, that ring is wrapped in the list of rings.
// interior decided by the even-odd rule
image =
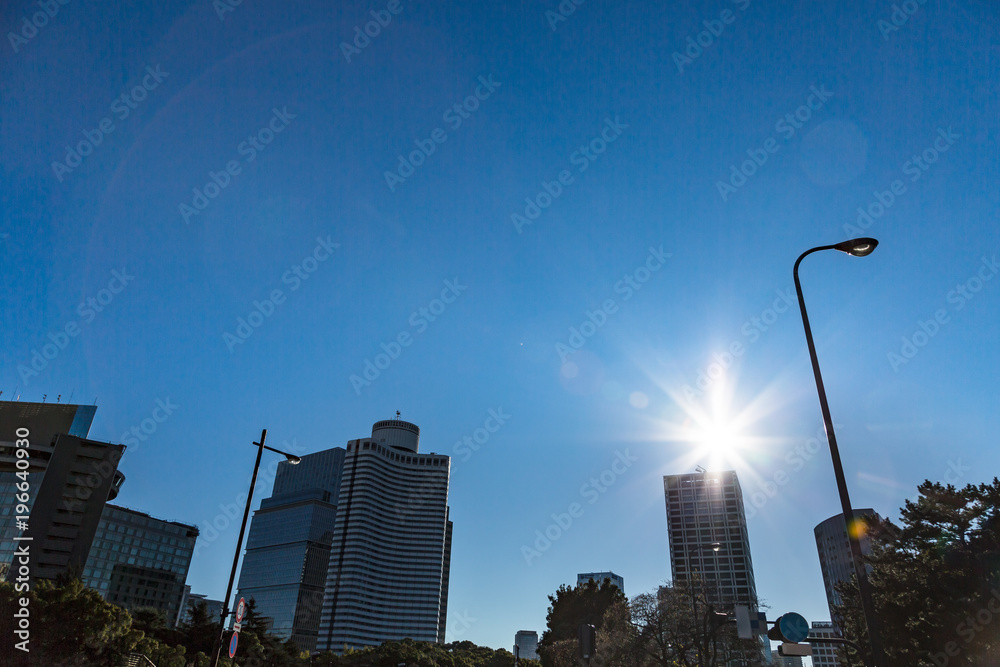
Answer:
[[[825,620],[799,253],[880,241],[801,269],[855,506],[1000,464],[998,9],[903,4],[7,3],[2,396],[96,397],[115,442],[175,404],[119,500],[202,526],[213,597],[261,428],[311,452],[398,409],[455,453],[502,409],[452,463],[449,640],[541,631],[577,572],[668,579],[662,476],[699,464],[787,475],[758,593]]]

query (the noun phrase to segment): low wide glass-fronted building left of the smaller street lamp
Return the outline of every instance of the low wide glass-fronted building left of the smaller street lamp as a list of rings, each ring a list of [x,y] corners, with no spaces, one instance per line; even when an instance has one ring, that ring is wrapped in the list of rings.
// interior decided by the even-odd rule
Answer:
[[[174,627],[197,538],[195,526],[105,505],[83,583],[119,607],[161,611],[167,627]]]

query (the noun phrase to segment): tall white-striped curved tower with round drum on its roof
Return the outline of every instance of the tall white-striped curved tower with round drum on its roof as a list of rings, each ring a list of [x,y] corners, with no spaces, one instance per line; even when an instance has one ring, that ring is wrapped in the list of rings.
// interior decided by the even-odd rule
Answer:
[[[376,422],[347,444],[323,599],[321,651],[412,638],[443,642],[451,459],[420,454],[420,429]]]

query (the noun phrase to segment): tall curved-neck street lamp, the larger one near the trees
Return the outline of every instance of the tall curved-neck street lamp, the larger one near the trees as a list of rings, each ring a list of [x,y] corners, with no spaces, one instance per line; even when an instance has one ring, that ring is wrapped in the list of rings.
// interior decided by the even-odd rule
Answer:
[[[809,358],[812,360],[813,375],[816,377],[816,391],[819,393],[819,404],[823,410],[823,424],[826,427],[826,439],[830,443],[830,455],[833,459],[833,472],[837,477],[837,490],[840,492],[840,504],[847,526],[847,538],[851,544],[851,556],[854,561],[854,572],[858,577],[858,590],[861,593],[861,607],[864,610],[865,625],[868,629],[868,639],[871,643],[872,658],[875,667],[885,667],[885,651],[882,646],[882,634],[878,627],[878,617],[875,614],[875,601],[872,597],[871,584],[868,581],[868,571],[861,555],[861,539],[851,529],[854,522],[854,510],[851,508],[851,497],[847,493],[847,480],[844,477],[844,466],[840,462],[840,450],[837,448],[837,436],[833,431],[833,418],[830,416],[830,405],[826,400],[826,389],[823,387],[823,377],[819,370],[819,360],[816,358],[816,345],[813,343],[812,329],[809,327],[809,316],[806,315],[806,302],[802,298],[802,285],[799,283],[799,263],[814,252],[820,250],[839,250],[854,257],[870,255],[878,241],[873,238],[851,239],[834,245],[825,245],[805,251],[795,260],[792,275],[795,278],[795,291],[799,297],[799,310],[802,311],[802,326],[806,332],[806,343],[809,345]]]

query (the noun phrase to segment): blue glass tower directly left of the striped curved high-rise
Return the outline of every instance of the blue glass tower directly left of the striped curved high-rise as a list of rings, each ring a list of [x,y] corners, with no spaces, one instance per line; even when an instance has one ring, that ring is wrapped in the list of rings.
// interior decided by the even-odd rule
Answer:
[[[253,598],[271,631],[303,651],[316,649],[345,453],[336,447],[278,464],[240,570],[237,597]]]

